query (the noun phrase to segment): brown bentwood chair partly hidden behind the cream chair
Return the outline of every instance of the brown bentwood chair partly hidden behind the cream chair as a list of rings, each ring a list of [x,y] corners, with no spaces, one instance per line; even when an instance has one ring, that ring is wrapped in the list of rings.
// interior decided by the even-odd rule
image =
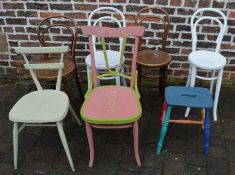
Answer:
[[[56,35],[49,35],[50,32],[57,33]],[[60,36],[60,32],[64,33],[63,36]],[[71,78],[75,78],[78,91],[80,93],[81,99],[84,100],[82,88],[79,82],[79,77],[77,73],[77,67],[76,67],[76,60],[75,60],[75,48],[76,48],[76,42],[77,42],[77,24],[76,22],[67,16],[51,16],[48,18],[45,18],[41,21],[41,23],[38,26],[38,39],[40,41],[40,45],[42,47],[46,46],[55,46],[55,45],[61,45],[60,42],[53,42],[50,41],[53,37],[53,40],[64,40],[65,42],[69,41],[69,48],[70,51],[68,53],[68,57],[64,59],[64,68],[62,72],[62,82],[64,84],[64,91],[69,96],[69,88],[68,88],[68,80]],[[58,39],[56,39],[56,37]],[[52,63],[52,62],[58,62],[58,59],[60,58],[49,58],[48,55],[44,56],[45,59],[43,62],[45,63]],[[36,70],[35,74],[40,80],[45,81],[56,81],[58,71],[54,70]]]

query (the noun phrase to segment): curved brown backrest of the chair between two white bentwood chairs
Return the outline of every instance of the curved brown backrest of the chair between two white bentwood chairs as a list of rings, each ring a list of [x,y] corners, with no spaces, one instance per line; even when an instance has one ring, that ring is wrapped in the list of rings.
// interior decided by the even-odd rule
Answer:
[[[144,17],[142,17],[143,13],[149,12],[149,11],[155,10],[157,12],[160,12],[163,14],[163,16],[156,16],[155,13],[154,15],[146,15],[144,14]],[[141,18],[142,17],[142,18]],[[157,21],[161,21],[164,25],[164,31],[162,33],[162,50],[164,51],[166,48],[166,41],[167,41],[167,35],[169,33],[170,29],[170,17],[169,14],[166,12],[166,10],[159,8],[159,7],[145,7],[141,9],[138,13],[137,16],[135,17],[135,24],[136,25],[142,25],[143,21],[146,19],[155,19]],[[141,46],[139,47],[139,50],[141,50]]]

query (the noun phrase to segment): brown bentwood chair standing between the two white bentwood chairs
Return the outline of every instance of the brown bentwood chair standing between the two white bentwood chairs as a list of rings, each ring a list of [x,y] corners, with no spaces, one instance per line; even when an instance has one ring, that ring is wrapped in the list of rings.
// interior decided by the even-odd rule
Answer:
[[[149,11],[152,11],[154,15],[142,14]],[[159,16],[155,15],[155,11],[160,12]],[[160,50],[143,50],[141,44],[139,45],[139,53],[137,57],[137,65],[138,65],[138,86],[141,90],[141,77],[146,77],[149,79],[157,79],[159,78],[159,96],[164,97],[164,89],[167,80],[167,69],[168,65],[171,62],[171,57],[168,53],[165,52],[167,35],[170,28],[170,17],[168,13],[161,8],[158,7],[145,7],[141,9],[135,18],[136,25],[143,25],[144,20],[155,20],[156,22],[163,23],[163,33],[162,33],[162,47]],[[160,24],[159,24],[160,25]],[[141,43],[141,42],[140,42]],[[142,67],[145,68],[158,68],[159,75],[143,75]]]

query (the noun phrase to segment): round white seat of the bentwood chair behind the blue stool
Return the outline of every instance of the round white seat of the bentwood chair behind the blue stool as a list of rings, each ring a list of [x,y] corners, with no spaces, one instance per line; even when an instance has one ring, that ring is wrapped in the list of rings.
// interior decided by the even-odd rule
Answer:
[[[190,53],[189,63],[201,69],[218,70],[226,65],[226,58],[217,52],[197,50]]]

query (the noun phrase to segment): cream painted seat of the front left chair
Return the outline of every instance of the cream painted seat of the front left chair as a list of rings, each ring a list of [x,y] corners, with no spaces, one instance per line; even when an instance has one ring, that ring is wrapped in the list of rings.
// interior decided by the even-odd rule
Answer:
[[[47,123],[64,119],[69,109],[68,96],[57,90],[34,91],[23,96],[11,109],[13,122]]]

